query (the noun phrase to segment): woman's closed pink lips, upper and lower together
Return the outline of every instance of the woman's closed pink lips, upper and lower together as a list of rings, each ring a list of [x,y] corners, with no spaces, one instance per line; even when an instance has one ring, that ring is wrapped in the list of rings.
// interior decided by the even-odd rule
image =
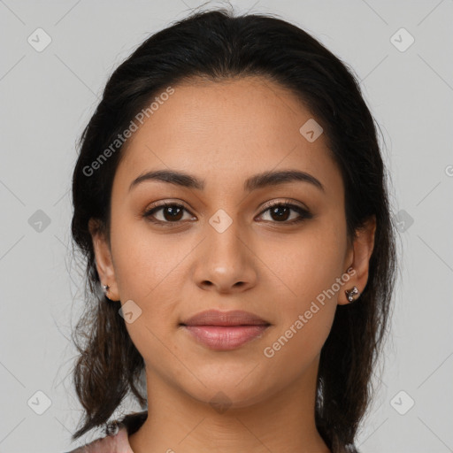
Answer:
[[[197,313],[180,326],[210,349],[231,350],[261,336],[271,324],[248,311],[209,310]]]

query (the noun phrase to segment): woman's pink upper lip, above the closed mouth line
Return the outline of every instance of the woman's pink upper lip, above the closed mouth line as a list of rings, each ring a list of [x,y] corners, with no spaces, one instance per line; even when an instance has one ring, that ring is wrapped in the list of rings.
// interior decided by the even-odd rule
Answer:
[[[200,311],[181,323],[183,326],[268,326],[270,323],[248,311]]]

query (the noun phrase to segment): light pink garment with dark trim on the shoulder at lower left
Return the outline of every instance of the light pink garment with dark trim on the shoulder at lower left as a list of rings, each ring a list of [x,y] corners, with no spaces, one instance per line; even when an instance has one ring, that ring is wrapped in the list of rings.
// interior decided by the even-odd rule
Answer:
[[[108,435],[67,453],[134,453],[128,437],[139,430],[147,417],[148,411],[134,412],[121,420],[110,422],[106,427]]]

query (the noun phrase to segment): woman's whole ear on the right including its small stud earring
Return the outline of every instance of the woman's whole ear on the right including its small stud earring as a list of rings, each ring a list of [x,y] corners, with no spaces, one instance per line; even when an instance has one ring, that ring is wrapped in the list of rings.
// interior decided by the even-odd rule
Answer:
[[[364,292],[368,281],[370,258],[374,249],[374,235],[376,233],[376,217],[366,220],[365,225],[357,229],[352,244],[352,262],[348,267],[353,268],[354,275],[349,279],[348,288],[338,296],[338,304],[345,305],[357,301]]]

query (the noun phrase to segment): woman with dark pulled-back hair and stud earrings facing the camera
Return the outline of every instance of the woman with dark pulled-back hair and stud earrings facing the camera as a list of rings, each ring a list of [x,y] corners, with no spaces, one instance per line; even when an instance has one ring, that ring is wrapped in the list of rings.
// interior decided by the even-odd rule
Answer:
[[[94,302],[73,440],[107,434],[73,451],[357,451],[395,279],[386,184],[355,77],[300,28],[217,10],[150,36],[73,173]],[[147,410],[108,423],[129,391]]]

